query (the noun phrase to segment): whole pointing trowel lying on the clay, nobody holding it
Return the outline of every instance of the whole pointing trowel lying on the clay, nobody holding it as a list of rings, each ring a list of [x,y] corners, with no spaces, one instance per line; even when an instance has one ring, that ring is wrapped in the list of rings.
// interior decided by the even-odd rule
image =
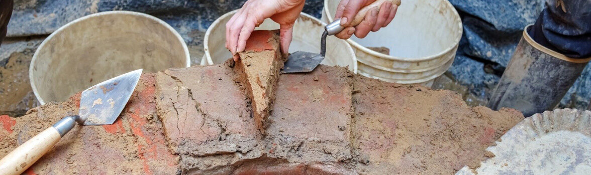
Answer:
[[[0,174],[21,174],[47,153],[76,123],[113,124],[138,84],[142,70],[100,82],[82,92],[78,115],[67,116],[18,146],[0,160]]]

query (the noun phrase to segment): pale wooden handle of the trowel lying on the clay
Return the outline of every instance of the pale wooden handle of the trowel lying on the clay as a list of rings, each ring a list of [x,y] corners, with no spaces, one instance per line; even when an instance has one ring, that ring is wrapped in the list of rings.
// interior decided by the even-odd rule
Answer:
[[[54,126],[47,128],[27,142],[21,144],[0,160],[0,174],[21,174],[60,140],[63,134],[72,130],[75,117],[64,117]]]

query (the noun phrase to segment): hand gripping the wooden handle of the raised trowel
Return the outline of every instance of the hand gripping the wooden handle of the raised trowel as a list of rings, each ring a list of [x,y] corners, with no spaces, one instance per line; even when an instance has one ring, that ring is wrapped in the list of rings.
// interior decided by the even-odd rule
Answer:
[[[341,18],[340,25],[348,26],[355,15],[364,6],[372,4],[376,0],[341,0],[335,14],[335,19]],[[363,21],[356,27],[347,27],[335,36],[341,39],[349,39],[353,34],[358,38],[365,38],[370,31],[378,31],[387,27],[398,10],[398,5],[387,1],[378,8],[371,9],[365,15]]]

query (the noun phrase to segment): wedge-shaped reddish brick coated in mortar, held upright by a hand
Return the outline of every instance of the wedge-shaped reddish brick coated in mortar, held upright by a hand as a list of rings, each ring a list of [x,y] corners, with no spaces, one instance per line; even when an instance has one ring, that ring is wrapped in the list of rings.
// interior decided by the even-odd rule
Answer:
[[[256,125],[263,131],[275,99],[279,71],[285,62],[279,48],[279,31],[253,31],[245,51],[238,54],[240,59],[235,66],[238,81],[246,87]]]

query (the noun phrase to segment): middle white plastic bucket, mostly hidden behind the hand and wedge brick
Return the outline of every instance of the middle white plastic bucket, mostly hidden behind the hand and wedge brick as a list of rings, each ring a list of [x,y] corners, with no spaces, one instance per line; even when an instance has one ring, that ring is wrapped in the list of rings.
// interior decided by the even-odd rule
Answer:
[[[228,12],[217,18],[216,21],[207,28],[203,47],[205,54],[202,59],[202,65],[206,61],[207,64],[220,64],[232,57],[232,54],[225,47],[226,43],[226,22],[230,20],[236,11]],[[320,38],[324,32],[326,23],[320,22],[319,19],[314,18],[305,13],[300,14],[294,25],[293,40],[290,45],[290,52],[306,51],[320,53]],[[279,24],[266,19],[256,29],[279,29]],[[341,67],[349,67],[350,71],[357,72],[357,60],[355,52],[351,46],[342,39],[329,36],[326,38],[326,58],[321,62],[324,65],[339,65]]]

